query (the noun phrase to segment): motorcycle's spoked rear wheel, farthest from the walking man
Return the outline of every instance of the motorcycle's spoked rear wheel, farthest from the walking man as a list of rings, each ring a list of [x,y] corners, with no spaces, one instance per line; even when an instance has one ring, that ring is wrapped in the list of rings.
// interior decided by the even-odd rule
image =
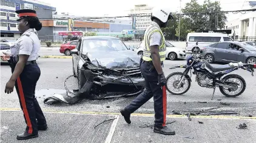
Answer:
[[[241,95],[246,88],[246,82],[239,75],[227,75],[222,80],[224,83],[226,82],[225,84],[231,85],[232,87],[234,87],[234,88],[219,87],[221,93],[224,96],[227,96],[229,98],[234,98]]]

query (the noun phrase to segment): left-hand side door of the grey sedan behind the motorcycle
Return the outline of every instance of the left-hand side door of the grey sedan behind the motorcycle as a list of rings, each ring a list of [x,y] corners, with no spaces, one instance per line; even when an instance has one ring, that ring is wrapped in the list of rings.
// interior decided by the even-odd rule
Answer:
[[[212,48],[215,53],[215,60],[217,61],[226,61],[226,50],[229,46],[228,42],[219,42],[215,47]]]

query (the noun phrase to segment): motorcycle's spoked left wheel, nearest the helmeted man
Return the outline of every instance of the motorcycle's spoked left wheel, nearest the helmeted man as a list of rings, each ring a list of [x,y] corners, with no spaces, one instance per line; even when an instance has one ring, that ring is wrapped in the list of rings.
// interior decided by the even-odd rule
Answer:
[[[175,81],[170,81],[170,79],[172,79],[173,77],[175,76],[180,76],[180,78],[178,78],[178,80],[175,80]],[[172,95],[183,95],[184,93],[186,93],[189,88],[190,88],[190,85],[191,85],[191,82],[189,79],[187,78],[184,78],[184,81],[182,82],[182,86],[184,87],[184,82],[186,81],[187,82],[187,86],[186,88],[184,88],[183,91],[180,91],[180,92],[177,92],[177,91],[173,91],[173,89],[171,89],[168,85],[174,87],[175,85],[177,86],[177,84],[180,82],[179,80],[181,80],[183,76],[183,73],[181,72],[175,72],[175,73],[171,73],[170,75],[167,76],[166,80],[167,80],[167,83],[166,83],[166,89],[167,91],[169,91],[169,93],[171,93]],[[170,81],[170,82],[169,82]],[[175,88],[175,87],[174,87]],[[177,88],[178,89],[178,88]]]

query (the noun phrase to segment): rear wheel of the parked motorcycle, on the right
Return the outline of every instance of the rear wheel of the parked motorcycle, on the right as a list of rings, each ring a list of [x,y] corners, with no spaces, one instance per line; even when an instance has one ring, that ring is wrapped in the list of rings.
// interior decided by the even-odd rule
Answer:
[[[244,92],[245,88],[246,88],[246,82],[244,81],[244,79],[239,75],[227,75],[222,80],[225,82],[225,81],[228,81],[229,79],[238,79],[238,81],[241,82],[241,89],[238,90],[238,85],[237,85],[236,82],[234,82],[234,86],[236,86],[235,88],[236,88],[236,90],[238,90],[238,93],[231,94],[232,93],[231,91],[234,90],[234,89],[224,89],[223,87],[219,87],[220,92],[224,96],[229,97],[229,98],[235,98],[235,97],[241,95]]]

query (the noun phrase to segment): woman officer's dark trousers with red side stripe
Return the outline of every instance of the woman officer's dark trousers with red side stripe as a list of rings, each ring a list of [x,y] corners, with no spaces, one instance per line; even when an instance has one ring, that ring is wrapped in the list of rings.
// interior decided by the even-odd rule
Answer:
[[[12,66],[12,73],[15,65]],[[19,104],[24,113],[27,133],[38,133],[38,125],[45,125],[46,120],[35,98],[36,82],[41,75],[36,63],[25,65],[21,75],[16,80],[15,88],[19,97]],[[38,121],[38,123],[36,122]]]

